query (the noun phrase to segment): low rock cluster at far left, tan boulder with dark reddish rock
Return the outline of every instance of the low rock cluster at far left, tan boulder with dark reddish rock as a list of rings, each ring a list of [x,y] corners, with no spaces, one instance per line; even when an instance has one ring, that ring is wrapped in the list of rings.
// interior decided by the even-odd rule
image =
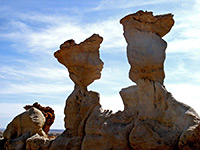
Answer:
[[[49,130],[51,125],[49,122],[52,122],[55,117],[53,109],[50,107],[42,107],[38,103],[27,105],[24,108],[26,111],[16,116],[4,131],[3,149],[48,149],[50,139],[43,129]]]

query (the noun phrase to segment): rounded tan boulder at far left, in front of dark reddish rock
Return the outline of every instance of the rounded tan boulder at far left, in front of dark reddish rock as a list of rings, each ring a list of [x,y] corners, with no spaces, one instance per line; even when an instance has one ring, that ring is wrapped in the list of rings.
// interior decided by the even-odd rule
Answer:
[[[47,135],[42,129],[45,121],[42,112],[35,107],[16,116],[3,133],[3,137],[6,140],[5,149],[24,149],[26,139],[36,133],[46,137]]]

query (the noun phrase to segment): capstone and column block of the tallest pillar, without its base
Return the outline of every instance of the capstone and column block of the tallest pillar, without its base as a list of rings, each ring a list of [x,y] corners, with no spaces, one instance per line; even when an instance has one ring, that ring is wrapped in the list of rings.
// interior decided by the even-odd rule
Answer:
[[[153,16],[152,12],[138,11],[120,20],[128,43],[129,78],[132,81],[149,79],[163,83],[167,43],[161,37],[173,26],[172,17],[171,14]]]

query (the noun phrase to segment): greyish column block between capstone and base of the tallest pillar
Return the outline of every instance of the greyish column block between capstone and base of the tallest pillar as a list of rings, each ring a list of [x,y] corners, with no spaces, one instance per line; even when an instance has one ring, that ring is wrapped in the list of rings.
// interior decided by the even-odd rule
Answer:
[[[133,34],[125,32],[124,36],[128,42],[127,56],[131,65],[130,79],[136,83],[138,79],[149,79],[163,83],[166,42],[154,33],[138,30],[135,30]]]

